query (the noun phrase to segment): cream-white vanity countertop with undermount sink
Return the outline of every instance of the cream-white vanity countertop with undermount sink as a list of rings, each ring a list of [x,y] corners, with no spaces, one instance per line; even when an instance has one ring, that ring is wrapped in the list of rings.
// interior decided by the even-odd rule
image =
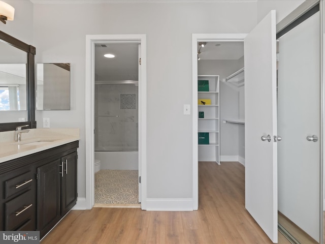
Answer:
[[[15,131],[0,132],[0,163],[80,139],[79,128],[40,128],[21,133],[15,141]]]

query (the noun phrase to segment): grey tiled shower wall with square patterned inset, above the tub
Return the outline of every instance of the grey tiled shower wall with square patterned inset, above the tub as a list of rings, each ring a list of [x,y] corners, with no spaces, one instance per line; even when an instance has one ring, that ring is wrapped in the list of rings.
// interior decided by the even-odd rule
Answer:
[[[138,150],[138,86],[95,85],[95,151]]]

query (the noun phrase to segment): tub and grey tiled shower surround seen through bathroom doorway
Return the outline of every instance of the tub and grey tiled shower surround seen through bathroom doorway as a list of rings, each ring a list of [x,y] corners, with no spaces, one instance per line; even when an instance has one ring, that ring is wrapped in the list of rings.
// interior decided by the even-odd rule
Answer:
[[[95,83],[95,151],[100,169],[138,170],[138,82]]]

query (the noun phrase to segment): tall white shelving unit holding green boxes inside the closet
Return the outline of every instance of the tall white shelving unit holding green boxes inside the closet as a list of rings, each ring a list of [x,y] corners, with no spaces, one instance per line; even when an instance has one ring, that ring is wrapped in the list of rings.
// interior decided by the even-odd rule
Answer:
[[[198,104],[198,111],[204,112],[203,118],[198,114],[198,132],[209,133],[209,144],[199,144],[199,161],[220,164],[219,75],[199,75],[198,80],[209,81],[209,91],[198,92],[198,99],[211,100],[211,105]]]

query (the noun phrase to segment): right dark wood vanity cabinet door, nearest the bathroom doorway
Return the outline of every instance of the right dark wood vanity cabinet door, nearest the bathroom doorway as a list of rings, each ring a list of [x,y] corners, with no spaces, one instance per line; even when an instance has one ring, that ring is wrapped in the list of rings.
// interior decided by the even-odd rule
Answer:
[[[77,153],[62,157],[61,215],[64,216],[77,201]]]

